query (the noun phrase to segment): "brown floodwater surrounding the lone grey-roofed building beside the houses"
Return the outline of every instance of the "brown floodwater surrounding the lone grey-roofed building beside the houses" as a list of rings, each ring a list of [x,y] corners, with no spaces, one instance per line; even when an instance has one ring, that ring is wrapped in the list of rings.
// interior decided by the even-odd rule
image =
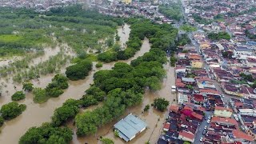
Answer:
[[[171,86],[175,84],[174,67],[170,67],[170,63],[168,62],[164,66],[164,68],[166,70],[167,77],[163,79],[162,90],[158,90],[155,92],[146,90],[142,104],[129,108],[128,110],[126,110],[126,114],[123,114],[121,118],[118,118],[117,120],[110,122],[106,126],[102,126],[101,128],[99,128],[97,134],[78,138],[76,135],[76,128],[75,126],[72,125],[73,121],[69,122],[68,126],[73,128],[74,130],[72,144],[79,144],[79,143],[86,143],[86,142],[89,144],[101,143],[97,139],[100,136],[102,136],[103,138],[111,138],[117,144],[126,143],[121,138],[114,137],[113,126],[116,122],[126,117],[126,115],[130,113],[136,114],[139,118],[144,120],[148,126],[147,126],[147,129],[142,132],[142,134],[138,134],[137,137],[135,137],[131,142],[128,142],[128,143],[137,144],[137,143],[145,143],[147,141],[150,141],[150,143],[156,143],[158,141],[159,135],[161,134],[162,126],[163,126],[163,123],[165,122],[165,118],[166,118],[166,115],[168,114],[168,110],[162,113],[158,110],[155,110],[152,106],[150,106],[150,110],[148,112],[144,114],[142,112],[146,105],[148,104],[151,105],[151,103],[154,102],[154,98],[166,98],[167,100],[170,101],[170,104],[176,104],[176,101],[174,102],[174,99],[176,100],[177,95],[171,93]],[[96,106],[92,107],[92,109],[94,109],[95,107]]]

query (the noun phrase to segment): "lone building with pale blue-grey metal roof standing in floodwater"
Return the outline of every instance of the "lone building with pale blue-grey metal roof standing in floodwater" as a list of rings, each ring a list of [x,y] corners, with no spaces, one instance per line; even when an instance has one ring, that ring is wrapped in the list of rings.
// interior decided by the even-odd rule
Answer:
[[[126,118],[122,118],[118,123],[114,124],[114,129],[118,131],[118,136],[126,142],[132,140],[136,135],[146,130],[146,122],[140,118],[129,114]]]

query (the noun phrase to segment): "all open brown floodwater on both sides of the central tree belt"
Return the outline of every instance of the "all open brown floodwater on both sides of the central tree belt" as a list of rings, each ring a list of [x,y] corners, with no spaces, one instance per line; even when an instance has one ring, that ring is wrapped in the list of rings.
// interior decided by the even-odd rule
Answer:
[[[121,30],[120,30],[121,29]],[[129,38],[130,34],[130,28],[128,25],[124,26],[125,33],[122,33],[122,27],[118,29],[122,33],[119,36],[120,41],[122,44],[125,44],[126,41]],[[63,46],[59,46],[60,48],[63,48]],[[64,46],[65,47],[65,46]],[[67,48],[67,47],[66,47]],[[66,52],[72,52],[70,50],[65,49]],[[119,62],[126,62],[130,63],[133,59],[138,58],[139,56],[142,56],[146,52],[150,50],[150,43],[147,38],[142,43],[142,48],[139,50],[135,55],[134,58],[130,58],[126,61],[119,61]],[[46,55],[44,55],[42,58],[34,59],[33,63],[36,64],[38,62],[46,61],[47,58],[50,58],[47,56],[47,54],[50,54],[51,52],[46,52]],[[53,54],[58,53],[58,50],[54,50]],[[36,104],[33,102],[33,95],[30,93],[26,94],[26,99],[20,101],[19,103],[26,104],[26,110],[18,116],[18,118],[14,118],[13,120],[6,121],[5,124],[2,126],[0,134],[0,143],[18,143],[18,139],[28,130],[31,126],[41,126],[43,122],[50,122],[50,117],[54,114],[54,110],[58,108],[59,106],[62,106],[62,103],[65,102],[69,98],[82,98],[82,95],[84,94],[85,90],[87,90],[90,87],[90,84],[93,83],[93,75],[98,70],[110,70],[114,66],[115,62],[104,64],[101,68],[96,68],[94,62],[93,70],[90,72],[90,74],[86,77],[86,79],[79,80],[79,81],[69,81],[69,88],[64,90],[64,94],[60,95],[58,98],[50,98],[47,102],[43,104]],[[150,90],[146,90],[146,93],[144,94],[144,99],[141,105],[135,106],[133,108],[130,108],[126,111],[126,114],[134,113],[138,115],[140,118],[146,121],[148,124],[148,129],[144,131],[142,134],[139,134],[138,137],[134,138],[133,141],[130,143],[144,143],[148,140],[150,142],[156,142],[158,139],[158,136],[160,134],[160,130],[162,128],[162,123],[165,120],[165,114],[166,113],[160,113],[158,110],[154,110],[152,107],[150,107],[150,110],[146,112],[145,114],[142,114],[142,111],[144,107],[147,104],[151,104],[154,101],[154,98],[166,98],[170,100],[170,102],[174,102],[173,99],[176,98],[175,95],[172,95],[170,93],[171,86],[174,85],[174,68],[170,67],[169,63],[165,65],[165,69],[167,72],[167,77],[164,78],[162,82],[162,90],[158,90],[156,92],[152,92]],[[62,72],[65,71],[65,67],[62,68]],[[51,82],[51,78],[54,77],[54,74],[48,74],[46,76],[42,76],[41,78],[38,78],[37,80],[32,80],[31,82],[34,83],[34,86],[36,87],[46,87],[46,85]],[[14,94],[15,91],[22,90],[21,84],[14,84],[11,80],[6,81],[6,79],[0,79],[0,86],[2,86],[2,97],[0,97],[0,106],[3,104],[6,104],[8,102],[11,102],[11,95]],[[16,86],[16,89],[14,89],[14,86]],[[98,106],[101,106],[100,104]],[[97,106],[90,106],[86,110],[93,110]],[[123,115],[123,117],[126,116],[126,114]],[[159,121],[158,121],[159,119]],[[98,133],[94,136],[90,137],[84,137],[84,138],[77,138],[75,134],[74,129],[74,138],[72,143],[98,143],[97,137],[98,136],[104,136],[107,138],[112,138],[116,143],[124,143],[122,139],[120,138],[114,138],[114,134],[112,132],[112,127],[114,123],[117,121],[114,121],[110,123],[107,126],[102,126]],[[72,127],[72,123],[70,122],[69,126]],[[154,133],[154,134],[153,134]]]

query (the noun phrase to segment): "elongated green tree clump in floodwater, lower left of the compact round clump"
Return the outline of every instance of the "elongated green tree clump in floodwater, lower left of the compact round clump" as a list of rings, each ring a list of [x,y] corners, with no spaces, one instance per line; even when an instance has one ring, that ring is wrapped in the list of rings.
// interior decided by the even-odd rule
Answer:
[[[63,94],[63,90],[69,86],[67,80],[66,76],[56,74],[54,78],[52,78],[52,82],[50,82],[45,89],[34,88],[34,102],[43,103],[49,98],[56,98],[60,94]]]

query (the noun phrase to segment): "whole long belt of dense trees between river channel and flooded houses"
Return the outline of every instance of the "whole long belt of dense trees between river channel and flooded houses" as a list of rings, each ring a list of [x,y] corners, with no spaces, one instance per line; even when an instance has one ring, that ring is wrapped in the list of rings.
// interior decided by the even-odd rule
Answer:
[[[62,10],[61,12],[53,13],[64,13],[69,17],[74,16]],[[158,25],[145,19],[138,20],[131,18],[126,22],[131,25],[130,38],[127,42],[126,50],[109,50],[107,52],[116,55],[117,59],[131,58],[140,49],[142,40],[145,37],[150,39],[150,52],[138,57],[130,65],[124,62],[117,62],[112,70],[100,70],[96,72],[94,74],[94,84],[86,90],[86,94],[81,99],[70,99],[62,107],[54,111],[52,123],[48,125],[51,131],[61,131],[60,129],[62,128],[58,128],[57,126],[62,126],[68,119],[74,118],[76,115],[75,124],[77,126],[78,136],[94,134],[99,126],[103,126],[118,118],[124,114],[126,108],[142,102],[145,88],[149,88],[150,90],[159,90],[161,88],[162,78],[166,76],[166,71],[162,66],[167,61],[165,51],[175,50],[176,45],[174,40],[176,39],[178,30],[174,29],[173,26],[167,24]],[[98,59],[100,58],[98,57]],[[112,59],[108,60],[106,58],[104,62],[112,62]],[[37,90],[37,88],[35,89]],[[46,89],[41,89],[38,90],[38,93],[46,94],[48,93],[47,91]],[[97,105],[98,102],[102,102],[101,107],[91,111],[86,110],[78,114],[78,107]],[[20,143],[41,142],[42,134],[38,133],[40,130],[44,131],[48,130],[48,128],[31,128],[22,136]],[[35,137],[33,137],[34,134],[36,134]],[[43,134],[45,137],[43,137],[44,141],[42,142],[48,142],[51,137],[56,138],[54,139],[56,142],[60,141],[60,139],[64,139],[66,143],[70,142],[70,137],[63,138],[63,135],[57,134],[55,136],[53,133]],[[65,135],[70,136],[71,134]]]

